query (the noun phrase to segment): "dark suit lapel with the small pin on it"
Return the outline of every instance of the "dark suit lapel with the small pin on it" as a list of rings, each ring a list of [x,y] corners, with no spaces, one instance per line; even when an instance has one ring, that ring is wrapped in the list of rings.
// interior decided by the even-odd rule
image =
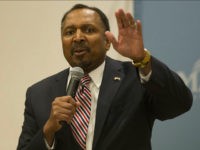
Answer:
[[[112,100],[116,95],[123,78],[124,73],[122,71],[121,63],[113,61],[110,58],[106,58],[106,65],[103,74],[102,84],[99,91],[96,111],[96,123],[93,140],[94,149],[97,141],[100,138]]]

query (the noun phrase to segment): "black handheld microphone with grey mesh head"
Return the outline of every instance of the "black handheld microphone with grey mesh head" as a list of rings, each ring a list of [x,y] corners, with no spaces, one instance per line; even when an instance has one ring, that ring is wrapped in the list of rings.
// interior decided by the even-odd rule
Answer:
[[[71,96],[72,98],[75,98],[76,91],[78,89],[79,83],[81,78],[84,76],[84,71],[80,67],[73,67],[70,69],[71,73],[71,79],[69,81],[69,85],[67,87],[67,96]],[[60,121],[59,122],[62,126],[66,125],[66,121]]]

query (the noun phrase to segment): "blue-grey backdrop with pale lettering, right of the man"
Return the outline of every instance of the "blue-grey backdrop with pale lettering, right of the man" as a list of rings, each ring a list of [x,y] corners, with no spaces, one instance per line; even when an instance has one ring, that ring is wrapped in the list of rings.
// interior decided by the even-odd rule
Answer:
[[[200,149],[200,1],[137,0],[145,47],[183,77],[194,96],[192,109],[176,119],[156,121],[153,150]]]

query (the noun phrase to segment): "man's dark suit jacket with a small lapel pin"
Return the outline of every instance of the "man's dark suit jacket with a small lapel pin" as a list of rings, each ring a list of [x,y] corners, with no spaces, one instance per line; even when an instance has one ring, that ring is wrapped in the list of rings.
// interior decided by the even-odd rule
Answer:
[[[141,84],[131,62],[106,58],[93,150],[151,150],[154,120],[174,118],[190,109],[191,92],[177,74],[153,57],[152,71],[150,81]],[[46,149],[42,128],[54,98],[66,95],[68,74],[69,69],[28,88],[18,150]],[[56,133],[55,140],[57,150],[80,150],[69,125]]]

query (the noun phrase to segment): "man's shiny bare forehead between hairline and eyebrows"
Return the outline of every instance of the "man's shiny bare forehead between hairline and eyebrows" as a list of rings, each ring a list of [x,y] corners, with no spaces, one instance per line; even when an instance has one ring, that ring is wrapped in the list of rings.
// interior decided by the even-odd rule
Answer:
[[[71,11],[64,20],[66,25],[96,24],[102,25],[101,18],[97,12],[91,9],[83,8]]]

